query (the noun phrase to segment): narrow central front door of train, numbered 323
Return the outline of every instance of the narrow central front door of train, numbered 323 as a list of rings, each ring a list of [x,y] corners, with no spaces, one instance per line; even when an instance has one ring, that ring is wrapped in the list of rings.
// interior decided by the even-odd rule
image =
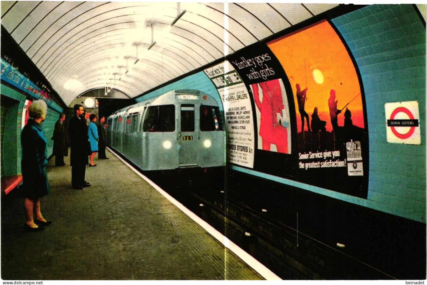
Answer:
[[[197,166],[197,135],[195,132],[194,104],[181,104],[179,144],[179,167]]]

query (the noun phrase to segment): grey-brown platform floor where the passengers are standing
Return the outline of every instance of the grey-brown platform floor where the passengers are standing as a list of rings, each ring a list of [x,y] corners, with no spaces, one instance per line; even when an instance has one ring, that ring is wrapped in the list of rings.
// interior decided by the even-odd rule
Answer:
[[[260,280],[116,156],[86,168],[91,187],[71,189],[71,167],[48,165],[43,232],[24,232],[23,199],[1,205],[3,280]],[[4,203],[4,202],[3,202]]]

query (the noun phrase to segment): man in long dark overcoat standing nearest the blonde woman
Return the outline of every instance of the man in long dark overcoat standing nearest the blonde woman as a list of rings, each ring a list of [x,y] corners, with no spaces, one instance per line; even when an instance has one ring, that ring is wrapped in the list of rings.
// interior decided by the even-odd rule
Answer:
[[[85,118],[82,118],[83,106],[74,105],[74,116],[70,119],[68,132],[70,134],[71,150],[71,185],[73,189],[83,189],[91,186],[91,183],[85,181],[86,165],[88,165],[88,126]]]

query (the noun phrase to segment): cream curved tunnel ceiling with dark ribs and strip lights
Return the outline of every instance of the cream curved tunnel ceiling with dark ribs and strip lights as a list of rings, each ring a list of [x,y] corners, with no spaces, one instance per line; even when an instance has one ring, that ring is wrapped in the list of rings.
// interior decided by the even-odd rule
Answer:
[[[69,105],[106,86],[135,97],[335,6],[1,1],[1,24]]]

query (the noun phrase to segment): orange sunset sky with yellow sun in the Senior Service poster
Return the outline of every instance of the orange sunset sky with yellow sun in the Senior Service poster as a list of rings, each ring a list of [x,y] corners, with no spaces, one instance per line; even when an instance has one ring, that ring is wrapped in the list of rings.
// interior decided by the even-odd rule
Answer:
[[[332,113],[338,113],[335,128],[337,125],[344,127],[346,118],[353,126],[364,128],[362,94],[356,70],[328,21],[285,35],[267,45],[280,61],[292,86],[298,133],[302,124],[305,132],[310,131],[308,125],[311,127],[312,115],[316,111],[322,123],[317,126],[319,120],[316,117],[313,132],[319,128],[332,132]]]

